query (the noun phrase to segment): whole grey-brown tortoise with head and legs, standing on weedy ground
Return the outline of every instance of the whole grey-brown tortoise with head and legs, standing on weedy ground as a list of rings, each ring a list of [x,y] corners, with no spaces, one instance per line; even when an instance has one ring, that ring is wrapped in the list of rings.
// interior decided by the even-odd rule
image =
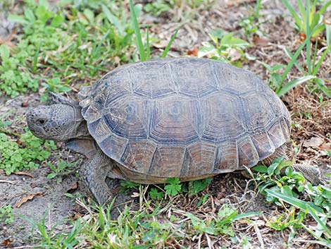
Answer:
[[[27,126],[85,154],[82,182],[96,201],[113,198],[106,177],[137,183],[190,181],[289,159],[291,116],[254,73],[210,59],[155,59],[119,66],[80,102],[51,94]],[[294,164],[318,181],[313,166]]]

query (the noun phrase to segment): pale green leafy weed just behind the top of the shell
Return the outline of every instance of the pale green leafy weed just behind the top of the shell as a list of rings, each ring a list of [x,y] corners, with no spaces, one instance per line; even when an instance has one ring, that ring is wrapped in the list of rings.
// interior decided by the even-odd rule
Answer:
[[[208,55],[211,56],[211,59],[241,67],[241,61],[247,57],[244,49],[249,47],[249,42],[234,37],[232,32],[225,32],[221,29],[212,30],[209,37],[213,44],[203,42],[203,47],[199,49],[199,57]]]

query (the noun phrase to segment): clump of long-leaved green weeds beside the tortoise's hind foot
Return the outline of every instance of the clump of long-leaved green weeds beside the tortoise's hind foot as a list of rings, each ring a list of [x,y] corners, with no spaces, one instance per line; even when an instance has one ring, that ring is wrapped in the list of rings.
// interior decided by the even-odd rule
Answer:
[[[292,207],[289,214],[272,219],[269,225],[277,230],[289,227],[293,233],[299,227],[304,228],[323,245],[330,246],[331,229],[328,222],[331,219],[331,189],[323,185],[312,186],[311,183],[306,183],[301,173],[294,172],[289,167],[291,164],[292,162],[276,159],[269,167],[259,165],[253,168],[261,172],[256,181],[259,182],[258,190],[265,195],[266,200],[276,205],[287,203]],[[294,212],[293,208],[299,209],[299,212]],[[316,220],[318,226],[315,229],[305,224],[307,214]]]

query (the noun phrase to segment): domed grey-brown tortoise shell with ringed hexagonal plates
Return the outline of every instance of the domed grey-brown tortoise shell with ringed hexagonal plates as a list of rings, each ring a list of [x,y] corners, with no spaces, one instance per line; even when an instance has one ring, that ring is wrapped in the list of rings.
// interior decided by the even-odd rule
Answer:
[[[127,64],[79,96],[89,133],[132,173],[200,178],[235,171],[289,140],[280,98],[254,73],[218,61]]]

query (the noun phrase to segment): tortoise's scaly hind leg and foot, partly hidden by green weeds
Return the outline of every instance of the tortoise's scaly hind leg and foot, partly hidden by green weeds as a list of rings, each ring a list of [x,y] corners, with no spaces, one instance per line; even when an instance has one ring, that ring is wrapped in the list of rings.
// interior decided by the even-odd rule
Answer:
[[[292,145],[282,145],[278,147],[275,150],[275,153],[273,153],[270,157],[263,159],[263,164],[270,165],[271,162],[273,162],[274,159],[282,157],[283,159],[290,160],[292,159]],[[301,174],[304,175],[304,178],[306,178],[307,181],[309,181],[314,186],[322,183],[321,177],[320,177],[320,170],[317,166],[312,165],[305,165],[305,164],[292,164],[292,169],[296,172],[301,172]]]

